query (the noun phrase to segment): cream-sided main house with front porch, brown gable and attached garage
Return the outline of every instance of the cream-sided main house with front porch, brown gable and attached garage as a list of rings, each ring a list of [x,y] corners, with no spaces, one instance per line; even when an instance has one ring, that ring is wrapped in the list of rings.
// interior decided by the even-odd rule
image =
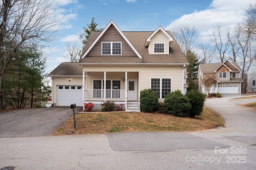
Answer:
[[[64,105],[73,88],[78,106],[90,102],[100,110],[102,103],[113,101],[123,110],[140,111],[144,89],[155,91],[160,101],[175,90],[186,93],[188,64],[170,31],[160,26],[153,32],[122,32],[111,20],[102,32],[91,32],[79,63],[61,63],[48,75],[53,104]],[[70,98],[65,105],[72,103]]]

